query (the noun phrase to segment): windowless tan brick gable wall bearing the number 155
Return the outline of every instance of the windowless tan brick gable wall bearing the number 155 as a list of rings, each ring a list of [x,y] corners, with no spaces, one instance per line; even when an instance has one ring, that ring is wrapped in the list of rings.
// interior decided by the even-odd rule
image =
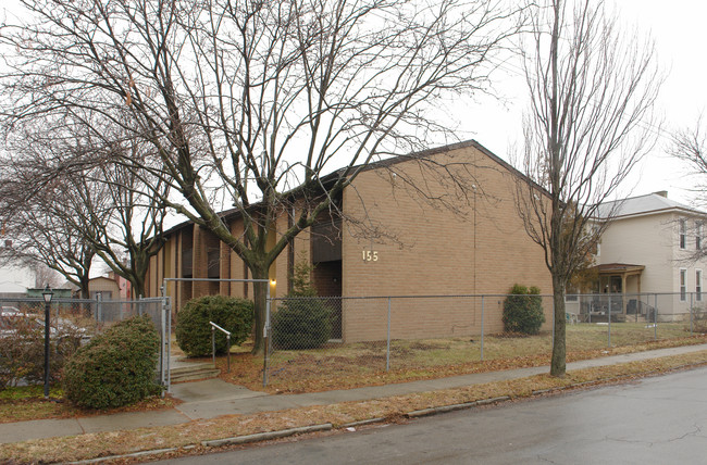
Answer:
[[[385,168],[364,172],[346,190],[345,214],[388,237],[345,228],[344,296],[491,294],[516,282],[551,292],[542,249],[516,212],[513,175],[473,147],[434,160],[436,168],[398,163],[392,167],[396,176]],[[475,185],[475,194],[455,189],[447,169]],[[369,251],[377,252],[377,261],[363,260]],[[484,329],[500,331],[500,299],[487,300]],[[380,314],[372,304],[346,301],[345,341],[381,339]],[[549,306],[546,314],[549,322]],[[392,323],[394,338],[479,334],[481,300],[409,300],[396,306]]]

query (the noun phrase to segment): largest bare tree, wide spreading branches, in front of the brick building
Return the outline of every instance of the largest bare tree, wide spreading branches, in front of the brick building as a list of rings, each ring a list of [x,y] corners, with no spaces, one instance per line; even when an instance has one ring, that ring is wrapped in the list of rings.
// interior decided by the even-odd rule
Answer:
[[[484,87],[518,12],[496,0],[23,3],[35,20],[0,32],[15,51],[0,76],[5,128],[91,113],[150,143],[159,163],[140,169],[178,194],[161,201],[258,279],[337,213],[333,199],[362,166],[445,131],[435,103]],[[243,234],[219,215],[232,205]],[[283,214],[292,226],[277,231]],[[256,352],[265,289],[256,286]]]

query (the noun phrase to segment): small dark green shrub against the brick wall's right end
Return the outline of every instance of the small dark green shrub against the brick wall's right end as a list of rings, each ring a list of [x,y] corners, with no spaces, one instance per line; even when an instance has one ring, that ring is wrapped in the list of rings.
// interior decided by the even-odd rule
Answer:
[[[514,285],[504,301],[504,330],[536,335],[545,323],[539,288]]]

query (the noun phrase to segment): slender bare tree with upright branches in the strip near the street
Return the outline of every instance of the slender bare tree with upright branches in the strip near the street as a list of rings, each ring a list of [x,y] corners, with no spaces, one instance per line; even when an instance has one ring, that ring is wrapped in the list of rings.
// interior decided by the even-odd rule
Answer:
[[[603,2],[553,0],[532,24],[517,205],[553,278],[550,374],[563,376],[566,286],[612,215],[601,204],[655,144],[661,78],[652,45],[621,34]]]

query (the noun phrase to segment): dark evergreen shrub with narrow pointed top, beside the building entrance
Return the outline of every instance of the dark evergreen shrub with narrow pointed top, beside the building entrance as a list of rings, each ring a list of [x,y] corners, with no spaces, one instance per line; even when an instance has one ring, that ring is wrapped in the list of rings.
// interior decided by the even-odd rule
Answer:
[[[295,266],[293,291],[272,316],[273,344],[277,349],[315,349],[332,335],[331,311],[317,297],[306,262]]]

